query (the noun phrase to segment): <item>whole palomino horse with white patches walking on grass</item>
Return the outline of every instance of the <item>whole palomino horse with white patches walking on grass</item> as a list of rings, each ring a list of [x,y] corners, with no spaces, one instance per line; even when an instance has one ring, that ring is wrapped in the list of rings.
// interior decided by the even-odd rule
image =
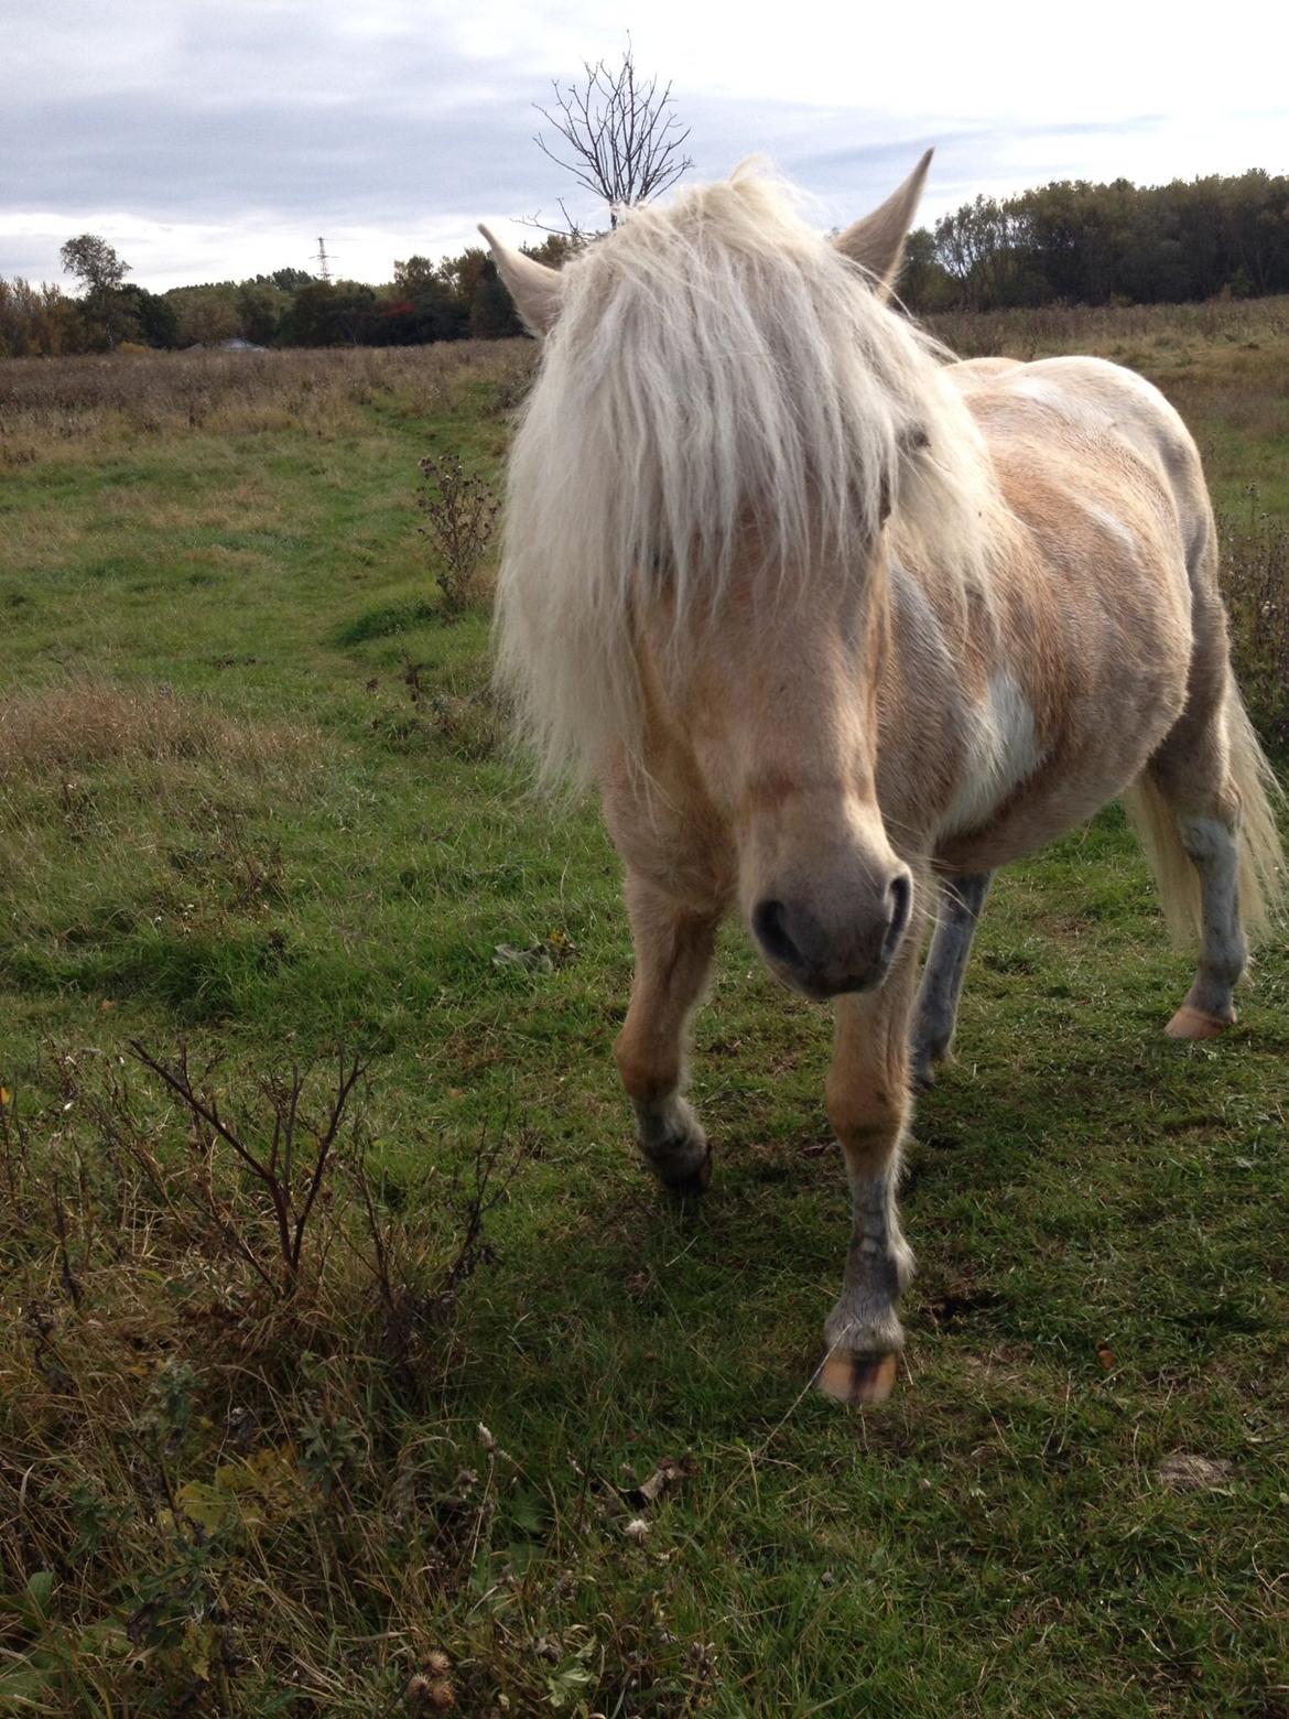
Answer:
[[[1234,1019],[1280,873],[1194,444],[1126,370],[957,364],[890,308],[928,162],[835,242],[748,167],[560,272],[485,230],[545,335],[498,672],[626,863],[639,1147],[706,1184],[684,1038],[737,904],[784,983],[834,999],[854,1229],[816,1377],[852,1403],[895,1377],[911,1088],[949,1052],[992,870],[1124,794],[1200,933],[1177,1038]]]

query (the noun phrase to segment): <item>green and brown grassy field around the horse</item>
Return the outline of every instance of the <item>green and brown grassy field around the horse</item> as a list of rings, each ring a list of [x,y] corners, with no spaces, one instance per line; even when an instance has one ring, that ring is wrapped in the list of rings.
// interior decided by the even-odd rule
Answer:
[[[1165,387],[1284,748],[1289,301],[940,332]],[[438,584],[529,364],[0,366],[0,1714],[1286,1719],[1284,933],[1181,1045],[1117,810],[1000,880],[897,1394],[806,1391],[827,1011],[727,932],[669,1207],[612,849]]]

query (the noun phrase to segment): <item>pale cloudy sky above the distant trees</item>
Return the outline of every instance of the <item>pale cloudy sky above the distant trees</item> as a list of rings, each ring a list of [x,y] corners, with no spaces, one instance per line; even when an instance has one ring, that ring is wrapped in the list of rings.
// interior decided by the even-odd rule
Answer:
[[[627,31],[694,175],[765,153],[820,225],[928,144],[925,217],[1050,179],[1289,168],[1289,24],[1251,0],[0,0],[0,275],[58,278],[86,230],[153,291],[309,268],[320,234],[373,282],[480,218],[522,239],[507,222],[555,222],[572,189],[533,103]]]

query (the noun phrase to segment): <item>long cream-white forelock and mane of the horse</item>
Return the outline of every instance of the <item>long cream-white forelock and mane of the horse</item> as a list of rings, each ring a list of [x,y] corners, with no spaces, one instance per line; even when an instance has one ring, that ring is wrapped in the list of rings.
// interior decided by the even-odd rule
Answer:
[[[767,612],[808,600],[815,567],[863,578],[889,511],[902,559],[973,571],[992,481],[945,354],[782,182],[744,165],[632,208],[562,285],[497,596],[498,679],[547,774],[638,751],[632,612],[662,581],[684,650],[736,559]]]

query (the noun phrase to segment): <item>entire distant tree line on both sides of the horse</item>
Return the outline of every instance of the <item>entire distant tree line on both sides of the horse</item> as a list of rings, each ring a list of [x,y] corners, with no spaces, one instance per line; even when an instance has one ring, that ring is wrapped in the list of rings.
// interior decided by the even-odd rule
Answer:
[[[593,69],[591,69],[593,70]],[[682,165],[687,165],[682,163]],[[562,263],[579,236],[529,246]],[[148,292],[95,234],[70,239],[62,287],[0,278],[0,358],[119,346],[421,346],[521,332],[486,251],[394,278],[318,280],[278,268],[249,280]],[[909,237],[901,297],[914,313],[1038,304],[1153,304],[1289,292],[1289,177],[1262,170],[1167,186],[1057,180],[1014,198],[976,198]]]

